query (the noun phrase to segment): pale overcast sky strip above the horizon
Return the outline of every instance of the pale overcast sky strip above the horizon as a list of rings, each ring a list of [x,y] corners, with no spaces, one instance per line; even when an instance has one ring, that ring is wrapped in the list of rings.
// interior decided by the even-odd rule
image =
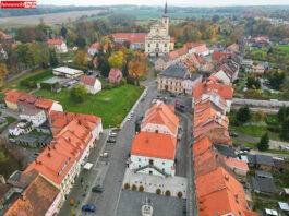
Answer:
[[[55,5],[164,5],[165,0],[36,0],[37,4]],[[224,7],[224,5],[288,5],[289,0],[168,0],[168,5]]]

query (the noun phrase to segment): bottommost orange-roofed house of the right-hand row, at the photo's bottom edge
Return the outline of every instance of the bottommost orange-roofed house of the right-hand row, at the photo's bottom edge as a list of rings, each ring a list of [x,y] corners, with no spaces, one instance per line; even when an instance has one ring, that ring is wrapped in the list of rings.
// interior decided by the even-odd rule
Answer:
[[[205,215],[252,215],[245,192],[222,167],[195,179],[197,211]]]

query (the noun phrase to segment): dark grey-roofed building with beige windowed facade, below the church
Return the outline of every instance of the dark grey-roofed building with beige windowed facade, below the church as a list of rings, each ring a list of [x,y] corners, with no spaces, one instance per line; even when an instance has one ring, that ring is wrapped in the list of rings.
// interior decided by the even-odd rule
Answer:
[[[170,65],[158,74],[158,91],[168,91],[174,94],[184,93],[183,81],[190,76],[190,71],[183,63]]]

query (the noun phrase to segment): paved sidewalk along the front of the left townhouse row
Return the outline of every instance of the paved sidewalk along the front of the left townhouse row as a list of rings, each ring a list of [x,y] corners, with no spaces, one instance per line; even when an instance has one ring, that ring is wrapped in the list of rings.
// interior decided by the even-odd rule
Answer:
[[[75,215],[80,215],[82,205],[86,204],[86,200],[89,196],[91,188],[97,184],[101,184],[101,181],[105,178],[106,171],[109,164],[98,163],[99,153],[106,145],[106,140],[109,134],[109,130],[104,130],[104,133],[100,135],[100,139],[97,141],[97,146],[92,149],[87,163],[94,164],[91,170],[82,169],[73,188],[64,201],[58,215],[72,215],[71,211],[75,211]],[[83,185],[81,184],[81,179],[83,178]],[[74,206],[70,205],[70,200],[74,200]]]

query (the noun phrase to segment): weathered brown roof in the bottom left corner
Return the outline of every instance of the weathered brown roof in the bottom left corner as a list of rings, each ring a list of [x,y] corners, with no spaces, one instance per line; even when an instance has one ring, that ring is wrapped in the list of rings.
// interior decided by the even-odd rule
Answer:
[[[37,176],[4,216],[45,215],[58,194],[59,190],[55,185],[41,176]]]

